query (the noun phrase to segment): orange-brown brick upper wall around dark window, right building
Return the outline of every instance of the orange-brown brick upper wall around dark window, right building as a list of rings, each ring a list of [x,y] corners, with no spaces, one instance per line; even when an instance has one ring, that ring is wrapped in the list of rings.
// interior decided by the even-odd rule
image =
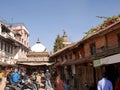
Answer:
[[[95,43],[96,53],[102,52],[103,49],[108,45],[108,49],[118,47],[117,34],[120,33],[120,29],[114,30],[106,35],[89,39],[84,43],[85,57],[90,56],[90,44]]]

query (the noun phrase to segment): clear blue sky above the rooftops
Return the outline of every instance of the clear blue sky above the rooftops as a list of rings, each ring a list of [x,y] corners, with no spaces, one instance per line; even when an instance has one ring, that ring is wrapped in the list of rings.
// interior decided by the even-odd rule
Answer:
[[[120,0],[0,0],[0,19],[24,23],[30,32],[30,46],[39,38],[48,51],[63,29],[72,42],[104,19],[120,14]]]

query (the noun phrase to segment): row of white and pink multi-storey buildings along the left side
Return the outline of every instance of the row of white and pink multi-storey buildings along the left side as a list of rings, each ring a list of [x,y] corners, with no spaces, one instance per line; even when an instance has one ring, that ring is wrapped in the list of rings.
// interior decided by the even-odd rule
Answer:
[[[19,27],[20,25],[17,25],[16,27]],[[11,26],[9,24],[6,24],[4,22],[0,22],[0,61],[1,63],[6,64],[15,64],[18,59],[25,59],[26,54],[29,51],[29,32],[27,32],[27,36],[25,38],[25,41],[27,44],[22,43],[17,35],[19,34],[16,32],[16,28],[13,28],[14,26]],[[22,25],[22,27],[25,27]],[[21,32],[23,29],[19,28],[19,31]],[[23,30],[23,33],[26,33],[25,30]],[[19,34],[19,38],[22,37],[24,34]]]

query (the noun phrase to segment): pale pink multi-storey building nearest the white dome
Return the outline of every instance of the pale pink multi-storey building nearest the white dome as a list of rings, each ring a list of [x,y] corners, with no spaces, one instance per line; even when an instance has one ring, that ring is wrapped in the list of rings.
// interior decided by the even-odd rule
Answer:
[[[11,27],[12,30],[15,32],[15,39],[19,43],[18,47],[16,48],[16,55],[15,59],[21,59],[21,60],[26,60],[27,59],[27,53],[30,50],[29,46],[29,32],[25,25],[15,25]]]

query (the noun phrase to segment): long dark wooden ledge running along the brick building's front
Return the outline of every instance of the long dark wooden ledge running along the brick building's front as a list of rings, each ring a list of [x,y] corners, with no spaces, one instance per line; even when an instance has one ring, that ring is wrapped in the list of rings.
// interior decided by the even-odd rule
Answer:
[[[95,55],[90,55],[88,57],[81,58],[78,60],[66,60],[66,62],[64,62],[63,64],[60,63],[60,65],[73,65],[73,64],[83,64],[83,63],[93,62],[93,60],[97,60],[107,56],[112,56],[118,53],[120,53],[120,47],[105,49],[104,51],[96,53]]]

